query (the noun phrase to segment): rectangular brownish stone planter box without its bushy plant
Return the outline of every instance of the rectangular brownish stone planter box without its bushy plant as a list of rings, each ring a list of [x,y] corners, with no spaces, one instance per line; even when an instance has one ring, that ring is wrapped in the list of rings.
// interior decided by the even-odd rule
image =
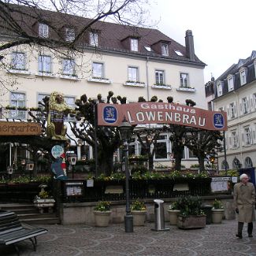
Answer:
[[[181,229],[204,228],[206,227],[206,215],[179,215],[177,226]]]

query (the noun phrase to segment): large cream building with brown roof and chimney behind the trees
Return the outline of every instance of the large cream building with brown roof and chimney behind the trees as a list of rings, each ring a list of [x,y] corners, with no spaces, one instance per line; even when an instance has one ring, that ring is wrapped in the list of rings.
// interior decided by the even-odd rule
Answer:
[[[77,20],[80,22],[76,24]],[[82,21],[87,19],[76,17],[72,27],[61,24],[65,41],[75,38],[76,25],[80,26]],[[29,24],[39,38],[55,36],[40,20],[28,20]],[[3,42],[10,40],[8,32],[2,31],[0,36]],[[203,90],[205,64],[195,55],[190,30],[183,46],[156,29],[98,21],[81,40],[80,53],[57,54],[46,47],[29,45],[11,47],[1,53],[2,79],[14,81],[13,87],[2,88],[1,105],[36,107],[52,91],[61,91],[65,101],[74,107],[76,98],[83,94],[88,98],[101,94],[106,99],[108,91],[113,91],[115,97],[125,96],[128,102],[137,102],[139,97],[149,101],[154,95],[167,102],[166,98],[173,96],[174,102],[184,104],[190,98],[199,108],[207,108]],[[12,118],[23,117],[15,111],[10,114]],[[169,162],[169,135],[162,135],[159,143],[164,147],[157,160]],[[134,153],[139,154],[136,141]],[[185,159],[187,167],[190,160],[195,162],[187,149]]]

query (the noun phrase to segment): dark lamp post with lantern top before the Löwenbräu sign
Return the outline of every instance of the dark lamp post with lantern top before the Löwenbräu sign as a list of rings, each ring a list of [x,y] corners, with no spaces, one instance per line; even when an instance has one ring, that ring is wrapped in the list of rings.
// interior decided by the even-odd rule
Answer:
[[[130,208],[130,191],[129,191],[129,179],[130,173],[128,171],[128,140],[132,135],[132,125],[128,123],[124,117],[121,125],[118,127],[121,140],[124,142],[124,169],[125,169],[125,216],[124,216],[124,230],[125,232],[133,232],[133,216]]]

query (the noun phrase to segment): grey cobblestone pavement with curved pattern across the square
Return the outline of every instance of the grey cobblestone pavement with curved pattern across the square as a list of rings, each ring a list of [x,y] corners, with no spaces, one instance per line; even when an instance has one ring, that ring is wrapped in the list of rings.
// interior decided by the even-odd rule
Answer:
[[[125,233],[124,224],[110,224],[107,228],[81,225],[40,225],[48,233],[38,237],[36,252],[28,241],[18,243],[20,256],[158,256],[158,255],[256,255],[256,225],[254,237],[248,238],[247,224],[243,239],[236,238],[236,221],[209,224],[206,228],[181,230],[165,224],[169,231],[155,232],[154,223],[134,227]],[[14,248],[0,247],[1,256],[17,255]]]

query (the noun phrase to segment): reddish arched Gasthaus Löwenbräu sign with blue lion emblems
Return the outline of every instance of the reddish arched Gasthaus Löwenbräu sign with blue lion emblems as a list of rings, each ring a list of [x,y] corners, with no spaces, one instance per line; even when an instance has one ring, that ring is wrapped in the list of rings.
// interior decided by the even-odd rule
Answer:
[[[204,130],[227,130],[227,113],[174,103],[98,103],[98,125],[119,126],[126,117],[132,124],[178,124]]]

